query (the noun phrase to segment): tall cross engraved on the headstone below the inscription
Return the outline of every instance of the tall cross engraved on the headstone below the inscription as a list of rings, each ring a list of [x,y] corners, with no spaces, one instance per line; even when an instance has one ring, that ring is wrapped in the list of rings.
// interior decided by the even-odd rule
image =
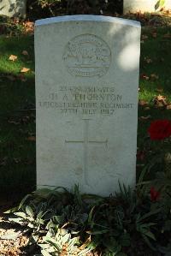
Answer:
[[[89,121],[90,119],[83,119],[84,121],[84,140],[65,140],[65,143],[80,143],[84,146],[84,177],[85,184],[88,185],[88,145],[89,144],[104,144],[108,146],[108,140],[89,140]]]

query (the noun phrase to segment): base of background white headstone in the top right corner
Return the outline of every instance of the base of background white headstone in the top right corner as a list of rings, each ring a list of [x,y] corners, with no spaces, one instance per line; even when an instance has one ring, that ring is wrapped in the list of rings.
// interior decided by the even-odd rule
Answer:
[[[163,1],[162,1],[163,2]],[[165,0],[163,5],[160,5],[160,0],[123,0],[123,12],[155,12],[160,8],[171,9],[171,0]]]

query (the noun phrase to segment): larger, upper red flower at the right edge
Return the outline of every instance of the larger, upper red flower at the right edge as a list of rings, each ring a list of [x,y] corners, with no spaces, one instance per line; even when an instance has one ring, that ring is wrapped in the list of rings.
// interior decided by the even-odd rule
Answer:
[[[171,135],[171,122],[169,120],[156,120],[150,123],[148,129],[151,140],[163,140]]]

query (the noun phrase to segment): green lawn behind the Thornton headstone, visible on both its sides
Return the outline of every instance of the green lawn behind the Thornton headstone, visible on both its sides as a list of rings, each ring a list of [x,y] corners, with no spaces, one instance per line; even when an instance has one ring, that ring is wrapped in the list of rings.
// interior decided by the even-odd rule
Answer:
[[[151,120],[171,117],[171,110],[155,108],[153,101],[162,94],[171,102],[171,37],[167,38],[167,33],[171,35],[171,27],[144,27],[142,31],[139,99],[146,101],[148,108],[139,106],[140,148]],[[2,194],[20,193],[21,197],[36,183],[35,111],[29,110],[35,106],[33,52],[33,36],[0,37],[0,188]],[[17,60],[9,61],[10,55]],[[21,74],[23,67],[30,71]]]

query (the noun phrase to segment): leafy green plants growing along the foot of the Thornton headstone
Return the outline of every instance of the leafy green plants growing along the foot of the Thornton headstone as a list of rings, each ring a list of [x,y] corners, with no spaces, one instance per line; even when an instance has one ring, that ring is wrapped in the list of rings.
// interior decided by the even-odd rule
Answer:
[[[119,187],[120,192],[109,198],[80,194],[78,186],[73,192],[40,189],[23,199],[9,220],[25,227],[30,245],[36,243],[45,256],[90,251],[132,256],[139,253],[138,244],[147,255],[169,255],[170,190],[152,201],[149,183],[135,190],[121,183]]]

